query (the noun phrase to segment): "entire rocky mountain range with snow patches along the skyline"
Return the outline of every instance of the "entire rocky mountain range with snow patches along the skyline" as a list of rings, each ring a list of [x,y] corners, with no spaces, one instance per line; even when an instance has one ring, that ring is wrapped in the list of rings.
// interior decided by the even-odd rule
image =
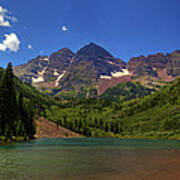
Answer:
[[[87,97],[92,93],[102,95],[122,82],[141,82],[157,89],[180,75],[180,50],[132,57],[126,63],[90,43],[76,53],[63,48],[50,56],[37,56],[15,66],[14,73],[42,92],[56,96],[75,96],[84,91]]]

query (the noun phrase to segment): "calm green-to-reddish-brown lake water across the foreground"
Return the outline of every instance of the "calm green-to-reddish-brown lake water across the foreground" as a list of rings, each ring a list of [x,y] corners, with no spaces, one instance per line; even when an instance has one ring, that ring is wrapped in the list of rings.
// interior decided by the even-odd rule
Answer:
[[[178,180],[180,141],[38,139],[0,146],[0,180]]]

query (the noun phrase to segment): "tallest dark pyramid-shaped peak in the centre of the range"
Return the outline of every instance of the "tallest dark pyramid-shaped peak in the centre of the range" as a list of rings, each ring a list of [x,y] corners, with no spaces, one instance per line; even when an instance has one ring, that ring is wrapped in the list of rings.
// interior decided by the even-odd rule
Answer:
[[[62,90],[79,90],[80,87],[99,88],[101,79],[111,79],[123,73],[125,63],[114,58],[105,49],[91,43],[80,49],[72,58],[69,71],[62,79]]]

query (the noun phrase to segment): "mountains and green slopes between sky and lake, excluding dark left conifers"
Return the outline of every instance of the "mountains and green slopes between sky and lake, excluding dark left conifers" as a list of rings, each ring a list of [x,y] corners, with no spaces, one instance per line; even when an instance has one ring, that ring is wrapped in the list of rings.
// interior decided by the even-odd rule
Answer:
[[[178,62],[180,51],[125,63],[91,43],[15,66],[16,98],[33,110],[33,134],[20,136],[179,139]]]

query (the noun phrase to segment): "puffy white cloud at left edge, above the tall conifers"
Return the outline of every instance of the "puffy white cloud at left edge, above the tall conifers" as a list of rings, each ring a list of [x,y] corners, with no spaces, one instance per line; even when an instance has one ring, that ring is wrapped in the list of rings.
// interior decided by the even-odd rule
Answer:
[[[5,34],[6,39],[0,43],[0,51],[10,51],[17,52],[19,50],[20,41],[15,33]]]

